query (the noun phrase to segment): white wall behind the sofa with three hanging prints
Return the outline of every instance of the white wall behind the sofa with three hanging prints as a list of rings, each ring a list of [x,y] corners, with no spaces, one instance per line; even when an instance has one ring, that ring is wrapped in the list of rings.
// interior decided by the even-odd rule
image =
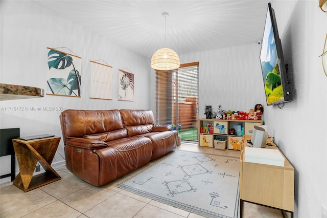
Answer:
[[[67,47],[82,57],[81,98],[45,95],[43,98],[0,101],[0,128],[20,128],[21,136],[55,134],[61,137],[61,111],[8,111],[9,107],[66,109],[150,109],[149,59],[108,42],[79,25],[30,1],[1,1],[1,83],[48,89],[48,50]],[[59,49],[71,53],[67,49]],[[90,99],[90,60],[103,59],[112,68],[112,100]],[[99,61],[100,63],[104,63]],[[134,101],[118,101],[118,70],[134,74]],[[151,71],[152,72],[152,71]],[[63,142],[53,163],[62,161]],[[8,159],[8,160],[7,160]],[[10,172],[10,158],[1,158],[1,175]],[[18,172],[18,167],[16,169]],[[3,179],[6,180],[6,179]],[[3,183],[3,180],[1,181]]]

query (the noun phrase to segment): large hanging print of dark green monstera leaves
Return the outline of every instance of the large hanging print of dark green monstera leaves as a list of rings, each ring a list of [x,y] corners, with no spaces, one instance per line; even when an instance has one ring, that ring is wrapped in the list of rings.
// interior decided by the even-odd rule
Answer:
[[[81,97],[82,58],[48,48],[47,95]]]

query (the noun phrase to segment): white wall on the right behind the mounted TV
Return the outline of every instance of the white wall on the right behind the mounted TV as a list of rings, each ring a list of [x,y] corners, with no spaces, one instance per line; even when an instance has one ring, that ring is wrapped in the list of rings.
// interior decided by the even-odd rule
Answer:
[[[321,57],[327,13],[318,1],[275,1],[279,36],[295,100],[265,108],[265,122],[295,168],[295,217],[321,217],[327,208],[327,77]]]

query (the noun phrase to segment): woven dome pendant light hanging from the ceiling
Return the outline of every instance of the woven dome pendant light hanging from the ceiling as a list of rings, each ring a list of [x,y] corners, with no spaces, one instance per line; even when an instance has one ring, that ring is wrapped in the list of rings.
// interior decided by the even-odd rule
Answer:
[[[165,16],[165,43],[166,43],[166,18],[167,12],[161,14]],[[177,53],[169,48],[158,49],[151,58],[151,68],[161,71],[175,70],[179,68],[179,57]]]

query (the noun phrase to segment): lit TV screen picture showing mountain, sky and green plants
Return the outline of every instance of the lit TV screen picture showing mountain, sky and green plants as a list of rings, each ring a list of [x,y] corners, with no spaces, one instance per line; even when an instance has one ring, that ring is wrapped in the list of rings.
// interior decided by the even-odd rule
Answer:
[[[284,91],[277,55],[272,21],[268,9],[260,53],[267,105],[284,102]]]

